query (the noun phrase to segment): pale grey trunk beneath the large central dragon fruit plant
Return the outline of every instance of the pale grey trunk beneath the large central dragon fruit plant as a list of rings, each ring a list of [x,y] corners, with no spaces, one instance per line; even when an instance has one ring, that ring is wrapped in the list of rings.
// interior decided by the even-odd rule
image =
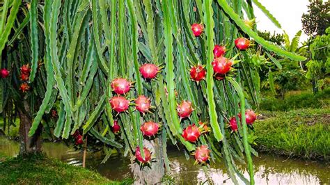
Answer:
[[[165,174],[164,157],[162,152],[162,137],[155,140],[143,140],[144,147],[152,152],[150,166],[140,167],[134,157],[131,159],[131,168],[134,174],[134,184],[161,184]]]

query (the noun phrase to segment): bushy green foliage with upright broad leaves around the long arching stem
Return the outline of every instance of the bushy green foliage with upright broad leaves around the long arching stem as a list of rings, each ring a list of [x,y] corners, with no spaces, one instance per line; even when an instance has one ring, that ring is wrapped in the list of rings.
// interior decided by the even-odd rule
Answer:
[[[259,33],[262,38],[275,42],[287,51],[306,54],[306,45],[299,47],[301,31],[290,40],[287,33],[271,34],[267,31]],[[284,98],[288,90],[297,90],[304,86],[304,63],[283,58],[274,52],[265,50],[262,45],[256,45],[256,54],[251,54],[249,63],[257,67],[261,88],[270,89],[274,95]]]

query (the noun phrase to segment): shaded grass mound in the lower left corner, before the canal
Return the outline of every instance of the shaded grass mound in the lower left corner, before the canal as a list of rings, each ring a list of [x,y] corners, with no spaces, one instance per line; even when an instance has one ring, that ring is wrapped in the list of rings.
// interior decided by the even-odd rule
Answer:
[[[0,184],[132,184],[112,182],[97,172],[43,155],[8,158],[0,154]]]

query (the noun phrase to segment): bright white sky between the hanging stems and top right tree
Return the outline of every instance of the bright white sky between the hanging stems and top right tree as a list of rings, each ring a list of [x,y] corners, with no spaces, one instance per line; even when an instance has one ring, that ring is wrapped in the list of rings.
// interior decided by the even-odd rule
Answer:
[[[259,2],[274,15],[278,22],[280,22],[282,29],[290,36],[290,40],[302,29],[301,15],[308,10],[308,0],[259,0]],[[283,31],[278,29],[254,4],[253,8],[255,10],[254,13],[256,15],[258,30],[267,30],[271,33],[274,33],[274,31],[276,31],[276,33],[283,33]],[[303,31],[300,41],[307,40],[307,38],[307,35],[305,35]]]

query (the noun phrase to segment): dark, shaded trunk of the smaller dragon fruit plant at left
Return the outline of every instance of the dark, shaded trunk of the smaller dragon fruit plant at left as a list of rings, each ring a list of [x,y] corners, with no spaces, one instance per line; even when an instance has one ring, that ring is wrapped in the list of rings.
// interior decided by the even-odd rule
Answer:
[[[36,154],[41,152],[41,131],[42,124],[39,124],[36,134],[29,137],[29,130],[32,125],[32,119],[27,113],[29,113],[29,107],[26,106],[27,103],[23,102],[24,109],[18,108],[19,113],[19,154]]]

